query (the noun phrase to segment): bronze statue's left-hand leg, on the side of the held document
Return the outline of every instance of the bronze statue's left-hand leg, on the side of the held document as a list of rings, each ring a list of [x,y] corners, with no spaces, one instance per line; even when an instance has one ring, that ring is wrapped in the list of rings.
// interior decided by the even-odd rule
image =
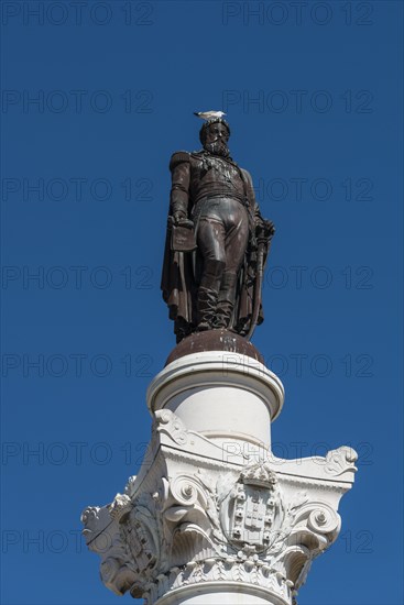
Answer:
[[[204,268],[198,289],[198,330],[211,330],[217,311],[220,282],[226,265],[225,227],[209,218],[201,218],[198,226],[198,251]]]

